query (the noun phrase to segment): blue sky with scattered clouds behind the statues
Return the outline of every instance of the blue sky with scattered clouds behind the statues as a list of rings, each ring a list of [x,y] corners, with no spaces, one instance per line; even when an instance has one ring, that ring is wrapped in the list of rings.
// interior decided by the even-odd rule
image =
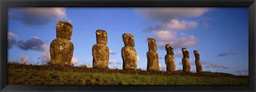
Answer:
[[[50,60],[49,47],[56,38],[58,21],[73,24],[75,66],[92,66],[95,31],[108,33],[109,67],[122,68],[122,34],[132,33],[137,68],[146,69],[147,38],[157,42],[161,70],[166,68],[165,44],[174,47],[176,70],[181,70],[181,48],[198,50],[203,71],[248,75],[248,8],[9,8],[8,59],[42,65]]]

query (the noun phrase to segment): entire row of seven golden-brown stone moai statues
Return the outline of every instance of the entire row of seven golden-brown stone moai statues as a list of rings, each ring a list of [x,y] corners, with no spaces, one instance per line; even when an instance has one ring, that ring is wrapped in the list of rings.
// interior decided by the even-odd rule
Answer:
[[[73,26],[64,21],[59,21],[56,26],[57,38],[51,42],[50,56],[52,65],[70,65],[73,57],[74,45],[70,42]],[[137,53],[134,49],[133,35],[124,33],[122,35],[124,47],[122,48],[123,69],[137,69]],[[109,49],[107,47],[108,36],[104,30],[96,31],[97,43],[92,47],[93,67],[94,68],[108,68]],[[156,41],[153,38],[148,38],[147,52],[147,70],[159,71],[159,62],[157,54]],[[167,54],[165,55],[165,63],[167,71],[175,71],[174,52],[171,44],[165,45]],[[183,72],[190,72],[189,52],[186,48],[182,48],[183,58],[182,66]],[[199,62],[199,54],[195,53],[196,71],[202,72],[202,66]]]

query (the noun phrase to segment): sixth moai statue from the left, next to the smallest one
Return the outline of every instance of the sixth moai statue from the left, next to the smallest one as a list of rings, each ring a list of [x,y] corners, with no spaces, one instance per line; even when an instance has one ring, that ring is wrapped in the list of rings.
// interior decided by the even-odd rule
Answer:
[[[182,58],[182,66],[183,72],[190,72],[190,63],[188,61],[189,52],[186,48],[182,48],[183,58]]]

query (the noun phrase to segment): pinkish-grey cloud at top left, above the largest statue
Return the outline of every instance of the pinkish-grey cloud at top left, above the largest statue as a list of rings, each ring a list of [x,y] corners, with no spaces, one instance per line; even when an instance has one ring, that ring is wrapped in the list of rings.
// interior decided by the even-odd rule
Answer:
[[[68,20],[66,14],[66,8],[62,7],[22,7],[13,8],[17,12],[9,13],[13,19],[21,21],[23,24],[28,26],[41,26],[50,22],[51,19],[54,20]]]

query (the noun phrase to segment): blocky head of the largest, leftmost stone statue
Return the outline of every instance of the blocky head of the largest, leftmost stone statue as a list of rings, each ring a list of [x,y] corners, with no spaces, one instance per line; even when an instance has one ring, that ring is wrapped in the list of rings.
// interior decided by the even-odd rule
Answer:
[[[58,21],[56,26],[57,38],[71,39],[73,26],[69,22]]]

